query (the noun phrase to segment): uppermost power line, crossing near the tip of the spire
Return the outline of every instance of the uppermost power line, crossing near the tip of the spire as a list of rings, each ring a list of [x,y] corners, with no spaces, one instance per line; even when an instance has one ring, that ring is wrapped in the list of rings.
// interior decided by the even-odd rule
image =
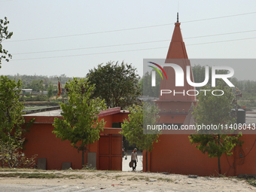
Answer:
[[[236,16],[247,15],[247,14],[256,14],[256,12],[251,12],[246,14],[234,14],[234,15],[228,15],[223,17],[212,17],[212,18],[202,19],[202,20],[190,20],[190,21],[184,21],[182,23],[191,23],[191,22],[197,22],[197,21],[203,21],[203,20],[216,20],[216,19],[221,19],[226,17],[236,17]],[[62,36],[54,36],[54,37],[47,37],[47,38],[29,38],[29,39],[23,39],[23,40],[6,41],[5,43],[19,42],[19,41],[35,41],[35,40],[43,40],[43,39],[50,39],[50,38],[68,38],[68,37],[75,37],[75,36],[81,36],[81,35],[93,35],[93,34],[108,33],[108,32],[122,32],[122,31],[128,31],[128,30],[146,29],[151,27],[169,26],[169,25],[173,25],[173,23],[166,23],[166,24],[155,25],[155,26],[141,26],[141,27],[134,27],[134,28],[128,28],[128,29],[116,29],[116,30],[109,30],[109,31],[103,31],[103,32],[88,32],[88,33],[81,33],[81,34],[75,34],[75,35],[62,35]]]

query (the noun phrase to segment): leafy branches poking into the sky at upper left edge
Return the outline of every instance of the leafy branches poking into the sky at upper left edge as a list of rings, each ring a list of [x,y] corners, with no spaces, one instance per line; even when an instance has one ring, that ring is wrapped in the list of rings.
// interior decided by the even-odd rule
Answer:
[[[7,17],[5,17],[5,20],[0,20],[0,68],[2,59],[5,59],[7,62],[9,61],[9,58],[11,59],[11,54],[2,46],[2,41],[11,38],[11,35],[13,35],[13,32],[8,32],[8,24],[9,21],[7,20]]]

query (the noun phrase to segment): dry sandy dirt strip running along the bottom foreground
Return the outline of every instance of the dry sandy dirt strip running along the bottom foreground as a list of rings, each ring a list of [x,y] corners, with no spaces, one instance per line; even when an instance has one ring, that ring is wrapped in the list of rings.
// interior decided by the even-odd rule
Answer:
[[[73,175],[69,178],[3,177],[3,174],[8,173],[14,172],[0,172],[0,191],[7,191],[6,188],[10,188],[10,186],[41,187],[41,190],[37,188],[37,190],[30,191],[256,191],[256,187],[237,178],[189,178],[187,175],[109,171],[41,172],[43,174],[54,173],[59,176]],[[1,190],[1,188],[5,188],[5,190]],[[26,190],[29,191],[29,188]]]

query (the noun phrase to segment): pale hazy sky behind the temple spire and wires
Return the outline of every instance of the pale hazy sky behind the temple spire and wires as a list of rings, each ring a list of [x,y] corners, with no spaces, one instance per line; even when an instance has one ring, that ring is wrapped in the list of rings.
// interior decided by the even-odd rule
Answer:
[[[14,32],[2,43],[13,59],[2,62],[0,75],[84,77],[108,61],[132,63],[142,75],[143,59],[166,58],[177,11],[189,59],[256,59],[255,8],[254,0],[0,0],[0,18],[8,17]],[[222,18],[207,20],[215,17]],[[206,35],[214,36],[194,38]],[[138,44],[150,41],[158,42]],[[256,63],[244,71],[254,69]]]

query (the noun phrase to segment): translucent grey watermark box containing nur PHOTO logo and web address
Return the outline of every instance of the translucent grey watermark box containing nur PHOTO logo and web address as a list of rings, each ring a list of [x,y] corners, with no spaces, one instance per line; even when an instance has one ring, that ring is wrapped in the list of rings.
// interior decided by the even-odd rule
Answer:
[[[160,110],[155,120],[149,115],[151,108],[143,108],[143,133],[253,134],[255,120],[245,120],[244,111],[237,110],[241,105],[237,96],[247,90],[252,94],[249,83],[255,81],[255,63],[256,59],[143,59],[142,100]],[[199,100],[206,101],[205,116],[196,123],[192,109],[201,106]],[[244,101],[242,105],[251,105]],[[229,114],[232,119],[220,118]],[[241,123],[230,123],[235,114]]]

